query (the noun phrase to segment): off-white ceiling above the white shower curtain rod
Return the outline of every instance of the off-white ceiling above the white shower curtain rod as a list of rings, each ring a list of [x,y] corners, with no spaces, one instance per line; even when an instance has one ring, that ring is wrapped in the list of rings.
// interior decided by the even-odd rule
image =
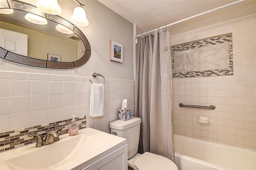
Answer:
[[[236,0],[98,0],[120,16],[140,27],[141,33]],[[256,0],[246,0],[203,16],[168,27],[170,34],[206,27],[256,13]]]

